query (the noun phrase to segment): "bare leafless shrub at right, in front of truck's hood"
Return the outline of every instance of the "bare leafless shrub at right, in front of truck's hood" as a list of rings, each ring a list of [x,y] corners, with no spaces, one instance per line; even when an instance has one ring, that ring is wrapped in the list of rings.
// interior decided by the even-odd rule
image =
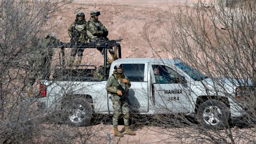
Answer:
[[[195,110],[193,113],[196,121],[191,123],[182,115],[157,119],[161,119],[162,125],[164,123],[167,126],[173,124],[182,127],[179,131],[172,129],[172,137],[185,140],[186,143],[254,143],[255,130],[252,127],[255,126],[256,120],[256,3],[241,1],[226,7],[223,1],[207,1],[207,4],[204,2],[199,1],[195,6],[180,7],[176,13],[170,12],[174,19],[168,23],[163,22],[169,35],[159,36],[159,42],[167,51],[167,57],[172,55],[173,58],[182,60],[207,76],[197,79],[197,82],[206,89],[205,94],[200,95],[193,87],[188,87],[190,93],[187,94],[187,99],[197,97],[190,101],[190,105],[193,106],[190,108]],[[190,76],[192,75],[195,75],[193,70],[190,71]],[[207,79],[211,79],[211,82]],[[229,86],[233,88],[230,90]],[[226,116],[230,118],[236,117],[233,110],[242,112],[243,120],[240,119],[239,124],[251,128],[238,129],[229,125],[231,121],[228,121],[222,130],[214,130],[211,126],[205,129],[198,114],[203,103],[209,100],[210,105],[220,101],[218,105],[226,107],[222,114],[228,112]],[[240,108],[231,108],[231,105]],[[168,123],[170,117],[174,117],[175,120]],[[168,129],[164,131],[171,132]]]

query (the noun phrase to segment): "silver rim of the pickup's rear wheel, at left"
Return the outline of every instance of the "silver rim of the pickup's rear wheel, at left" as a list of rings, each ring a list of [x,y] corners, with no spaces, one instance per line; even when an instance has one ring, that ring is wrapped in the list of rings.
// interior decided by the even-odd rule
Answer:
[[[75,105],[70,109],[68,117],[73,123],[81,123],[86,118],[86,110],[82,105]]]

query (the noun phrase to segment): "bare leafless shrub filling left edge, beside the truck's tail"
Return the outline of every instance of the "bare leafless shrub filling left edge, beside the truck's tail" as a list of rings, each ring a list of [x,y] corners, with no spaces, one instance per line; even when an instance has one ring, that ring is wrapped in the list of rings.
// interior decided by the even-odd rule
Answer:
[[[38,73],[38,63],[31,67],[29,61],[31,58],[40,61],[39,44],[55,25],[51,18],[70,2],[0,2],[1,143],[83,143],[91,135],[90,127],[79,132],[77,127],[64,129],[58,124],[42,124],[49,116],[38,109],[37,102],[31,100],[26,91],[29,76]],[[57,122],[58,119],[53,120]]]

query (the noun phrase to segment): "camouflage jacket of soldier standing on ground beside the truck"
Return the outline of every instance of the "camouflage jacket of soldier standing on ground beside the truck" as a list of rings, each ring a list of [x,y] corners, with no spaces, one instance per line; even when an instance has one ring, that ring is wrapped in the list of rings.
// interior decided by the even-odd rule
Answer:
[[[125,84],[125,83],[123,83],[123,81],[119,81],[119,79],[117,77],[114,77],[113,75],[111,75],[108,78],[106,90],[111,94],[117,95],[117,93],[116,93],[117,86],[119,86],[119,84],[120,84],[123,87],[123,89],[128,93],[129,92],[128,89],[129,89],[129,87],[131,87],[131,83],[129,82],[128,78],[125,76],[125,79],[128,80],[128,83]]]

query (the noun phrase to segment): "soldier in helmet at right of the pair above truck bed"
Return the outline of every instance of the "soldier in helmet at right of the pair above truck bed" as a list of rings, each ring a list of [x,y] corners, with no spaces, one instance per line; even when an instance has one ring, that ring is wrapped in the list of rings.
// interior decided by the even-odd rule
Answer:
[[[89,38],[89,42],[99,42],[100,40],[106,40],[108,41],[108,30],[105,26],[102,25],[102,23],[98,20],[100,12],[98,10],[92,10],[91,18],[89,21],[87,21],[87,36]],[[101,54],[103,55],[104,50],[98,49]],[[113,60],[116,59],[115,52],[112,49],[108,50],[111,56],[113,57]],[[113,60],[108,59],[108,62],[112,62]]]

